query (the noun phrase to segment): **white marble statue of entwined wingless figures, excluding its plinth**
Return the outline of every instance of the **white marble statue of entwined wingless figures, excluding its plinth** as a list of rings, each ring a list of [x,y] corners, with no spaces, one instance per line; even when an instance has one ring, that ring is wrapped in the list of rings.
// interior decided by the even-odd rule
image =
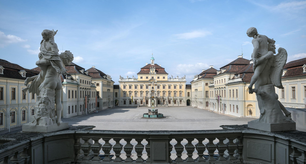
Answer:
[[[28,77],[24,85],[27,87],[22,91],[36,93],[38,102],[35,106],[36,114],[33,116],[31,125],[49,126],[61,125],[62,117],[62,81],[61,75],[66,75],[65,65],[73,61],[73,54],[65,51],[58,54],[57,44],[54,36],[57,30],[43,30],[43,40],[40,43],[39,60],[36,65],[41,72],[39,75]],[[32,83],[28,85],[29,82]]]

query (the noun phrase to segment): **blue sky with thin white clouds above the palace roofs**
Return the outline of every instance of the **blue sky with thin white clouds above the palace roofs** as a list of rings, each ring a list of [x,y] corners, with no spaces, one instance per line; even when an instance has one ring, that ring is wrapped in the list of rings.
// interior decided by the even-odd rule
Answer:
[[[55,43],[74,63],[110,75],[137,77],[155,58],[169,74],[194,75],[251,59],[249,27],[273,38],[287,62],[306,58],[306,1],[99,0],[0,1],[0,58],[35,68],[41,32],[58,30]]]

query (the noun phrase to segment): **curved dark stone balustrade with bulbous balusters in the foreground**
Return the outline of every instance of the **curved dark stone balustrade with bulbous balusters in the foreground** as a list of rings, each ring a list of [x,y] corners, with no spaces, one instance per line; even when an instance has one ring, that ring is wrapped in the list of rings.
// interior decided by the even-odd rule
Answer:
[[[103,131],[70,126],[1,136],[2,163],[306,163],[305,132],[224,130]]]

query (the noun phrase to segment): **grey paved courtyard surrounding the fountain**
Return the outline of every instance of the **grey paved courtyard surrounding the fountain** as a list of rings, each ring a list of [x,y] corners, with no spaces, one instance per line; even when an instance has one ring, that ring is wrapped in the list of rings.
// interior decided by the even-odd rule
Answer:
[[[95,130],[211,130],[220,125],[248,124],[252,117],[231,117],[208,110],[182,107],[156,107],[166,118],[144,119],[151,107],[115,107],[99,113],[62,118],[69,125],[93,125]]]

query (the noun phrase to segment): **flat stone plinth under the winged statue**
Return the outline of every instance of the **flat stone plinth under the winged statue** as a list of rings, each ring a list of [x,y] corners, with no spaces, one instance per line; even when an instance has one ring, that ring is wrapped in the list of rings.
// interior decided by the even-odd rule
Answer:
[[[286,122],[286,123],[263,123],[249,121],[248,128],[257,129],[267,132],[277,132],[277,131],[295,131],[296,123],[295,122]]]

